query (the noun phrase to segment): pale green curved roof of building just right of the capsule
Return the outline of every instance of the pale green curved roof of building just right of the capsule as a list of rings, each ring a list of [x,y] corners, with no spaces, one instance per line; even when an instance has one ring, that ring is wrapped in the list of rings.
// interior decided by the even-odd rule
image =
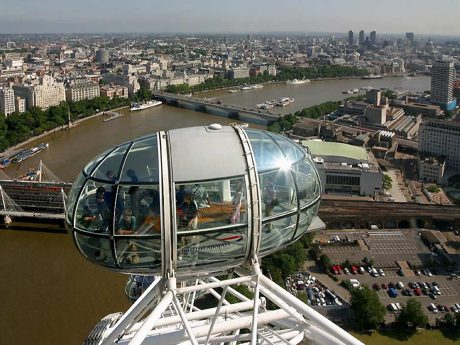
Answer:
[[[308,146],[310,152],[315,156],[340,156],[357,161],[369,161],[368,152],[361,146],[353,146],[343,142],[316,140],[304,140],[302,145]]]

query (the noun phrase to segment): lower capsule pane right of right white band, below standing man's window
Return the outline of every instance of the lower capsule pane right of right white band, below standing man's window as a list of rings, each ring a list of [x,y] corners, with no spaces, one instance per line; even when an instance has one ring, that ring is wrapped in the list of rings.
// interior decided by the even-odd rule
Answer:
[[[285,218],[262,224],[262,242],[260,252],[281,247],[291,241],[297,224],[297,213],[290,214]]]

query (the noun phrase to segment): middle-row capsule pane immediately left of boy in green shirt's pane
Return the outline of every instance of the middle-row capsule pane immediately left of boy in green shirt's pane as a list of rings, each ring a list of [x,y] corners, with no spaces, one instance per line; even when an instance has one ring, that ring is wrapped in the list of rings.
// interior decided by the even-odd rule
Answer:
[[[116,186],[87,180],[77,203],[75,226],[80,230],[110,233]]]

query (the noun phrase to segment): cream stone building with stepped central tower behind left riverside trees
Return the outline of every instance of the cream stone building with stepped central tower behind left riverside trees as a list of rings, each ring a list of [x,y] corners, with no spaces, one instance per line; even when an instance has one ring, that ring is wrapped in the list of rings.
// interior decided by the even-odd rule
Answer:
[[[44,75],[33,84],[15,84],[13,89],[15,95],[25,98],[26,109],[32,107],[46,109],[53,105],[59,105],[66,100],[64,83],[56,82],[49,75]]]

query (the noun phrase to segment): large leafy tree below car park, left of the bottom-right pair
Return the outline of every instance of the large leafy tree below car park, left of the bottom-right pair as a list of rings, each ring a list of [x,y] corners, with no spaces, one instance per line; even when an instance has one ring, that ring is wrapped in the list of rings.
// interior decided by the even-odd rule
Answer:
[[[351,309],[362,329],[376,329],[380,322],[384,322],[387,311],[377,292],[363,285],[361,288],[351,288],[350,296]]]

